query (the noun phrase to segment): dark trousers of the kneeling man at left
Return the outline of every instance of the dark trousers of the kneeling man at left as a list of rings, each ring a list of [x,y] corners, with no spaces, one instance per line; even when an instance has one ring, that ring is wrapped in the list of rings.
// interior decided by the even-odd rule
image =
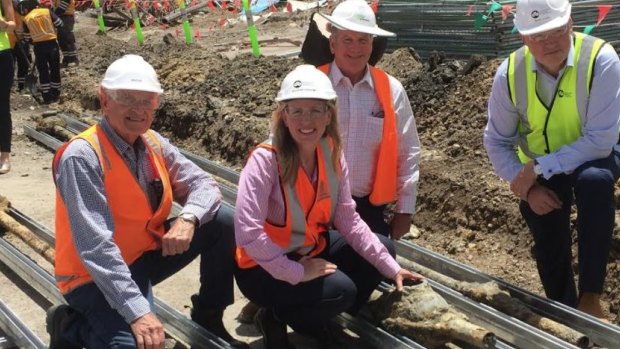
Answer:
[[[142,294],[153,304],[152,286],[200,256],[201,303],[223,309],[233,303],[234,250],[233,213],[222,206],[213,220],[196,230],[187,252],[168,257],[163,257],[161,250],[147,252],[129,269]],[[64,297],[75,309],[63,333],[65,338],[89,349],[136,348],[129,324],[110,307],[97,285],[80,286]]]

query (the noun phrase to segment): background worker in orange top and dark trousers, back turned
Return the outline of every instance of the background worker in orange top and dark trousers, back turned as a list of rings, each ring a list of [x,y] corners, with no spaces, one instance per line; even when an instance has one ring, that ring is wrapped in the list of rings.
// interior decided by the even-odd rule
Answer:
[[[43,102],[58,101],[60,52],[55,27],[62,27],[62,21],[50,9],[39,7],[37,0],[20,0],[17,9],[24,17],[22,24],[24,40],[33,43]]]

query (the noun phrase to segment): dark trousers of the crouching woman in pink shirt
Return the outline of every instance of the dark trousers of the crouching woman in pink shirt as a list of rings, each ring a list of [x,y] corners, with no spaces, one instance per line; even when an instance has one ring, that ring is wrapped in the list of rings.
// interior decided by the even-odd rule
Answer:
[[[378,237],[394,256],[396,252],[390,239]],[[291,285],[274,279],[260,266],[237,268],[239,289],[250,301],[273,308],[278,318],[304,334],[315,333],[344,311],[355,315],[383,276],[338,232],[330,231],[328,240],[327,247],[317,257],[336,264],[338,270],[335,273]]]

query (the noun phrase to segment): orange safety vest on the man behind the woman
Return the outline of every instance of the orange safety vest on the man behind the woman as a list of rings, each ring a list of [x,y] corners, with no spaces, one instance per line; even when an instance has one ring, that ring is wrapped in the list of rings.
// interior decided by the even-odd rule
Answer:
[[[373,205],[379,206],[396,201],[398,137],[396,133],[396,113],[394,112],[388,75],[379,68],[369,67],[377,99],[383,109],[383,136],[379,146],[379,155],[375,165],[375,178],[369,198]],[[330,64],[324,64],[317,68],[329,76]]]

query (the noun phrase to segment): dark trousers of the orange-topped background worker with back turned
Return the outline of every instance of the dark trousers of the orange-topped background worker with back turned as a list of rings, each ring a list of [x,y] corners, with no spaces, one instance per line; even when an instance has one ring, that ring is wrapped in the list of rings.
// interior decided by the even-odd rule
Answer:
[[[49,101],[60,94],[60,52],[56,40],[34,43],[39,83],[43,100]]]

